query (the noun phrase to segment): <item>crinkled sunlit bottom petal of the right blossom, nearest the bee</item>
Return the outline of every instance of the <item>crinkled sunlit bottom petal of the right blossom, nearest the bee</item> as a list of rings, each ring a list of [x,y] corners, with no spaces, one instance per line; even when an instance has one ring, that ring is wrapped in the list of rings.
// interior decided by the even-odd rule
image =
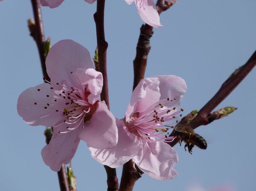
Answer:
[[[159,180],[177,176],[173,167],[178,162],[178,155],[170,145],[162,141],[142,140],[142,143],[143,149],[133,159],[143,172]]]

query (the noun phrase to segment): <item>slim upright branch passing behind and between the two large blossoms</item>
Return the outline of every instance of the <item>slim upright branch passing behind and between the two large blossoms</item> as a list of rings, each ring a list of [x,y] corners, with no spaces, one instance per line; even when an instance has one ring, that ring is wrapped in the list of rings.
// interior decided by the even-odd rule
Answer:
[[[109,107],[109,89],[108,89],[108,76],[106,70],[106,52],[108,49],[108,42],[105,40],[104,33],[104,7],[105,0],[97,1],[97,11],[94,14],[94,21],[96,24],[97,34],[97,48],[98,48],[98,70],[103,76],[103,87],[100,94],[101,100],[104,100],[106,105]],[[104,166],[107,173],[107,184],[108,191],[118,191],[118,179],[116,176],[116,169],[112,169],[108,166]]]

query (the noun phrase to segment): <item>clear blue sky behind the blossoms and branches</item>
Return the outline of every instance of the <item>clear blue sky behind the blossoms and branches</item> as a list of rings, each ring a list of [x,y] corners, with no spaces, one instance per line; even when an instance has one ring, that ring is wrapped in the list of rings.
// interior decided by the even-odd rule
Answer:
[[[200,109],[255,51],[255,7],[255,0],[179,0],[161,14],[164,26],[154,29],[145,77],[182,77],[188,86],[181,105],[184,114]],[[66,0],[55,9],[43,7],[45,36],[52,38],[52,44],[62,39],[75,40],[93,56],[97,45],[95,11],[96,3],[90,5],[83,0]],[[31,17],[30,1],[0,2],[0,184],[1,189],[8,191],[59,189],[57,174],[41,158],[45,127],[27,125],[16,111],[19,94],[43,82],[38,50],[27,28],[27,19]],[[117,118],[124,117],[130,101],[132,61],[141,24],[134,3],[106,1],[110,108]],[[194,148],[190,155],[183,146],[175,145],[179,155],[175,170],[179,175],[159,181],[144,174],[134,191],[184,191],[191,183],[205,188],[228,184],[237,191],[256,190],[255,76],[254,69],[216,108],[232,105],[238,110],[196,129],[207,140],[207,150]],[[106,190],[104,168],[90,157],[84,142],[80,142],[72,162],[79,191]],[[122,168],[117,173],[120,180]]]

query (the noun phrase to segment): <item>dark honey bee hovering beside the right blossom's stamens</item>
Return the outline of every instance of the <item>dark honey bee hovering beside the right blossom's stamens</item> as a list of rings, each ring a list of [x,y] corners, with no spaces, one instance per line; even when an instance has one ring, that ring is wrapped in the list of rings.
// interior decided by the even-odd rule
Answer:
[[[194,130],[186,125],[176,125],[174,127],[175,134],[177,135],[177,138],[179,138],[179,143],[181,146],[181,142],[184,141],[186,144],[184,146],[185,151],[186,147],[188,147],[188,152],[192,154],[192,148],[194,145],[198,146],[200,149],[206,149],[207,148],[207,142],[203,137],[196,134]]]

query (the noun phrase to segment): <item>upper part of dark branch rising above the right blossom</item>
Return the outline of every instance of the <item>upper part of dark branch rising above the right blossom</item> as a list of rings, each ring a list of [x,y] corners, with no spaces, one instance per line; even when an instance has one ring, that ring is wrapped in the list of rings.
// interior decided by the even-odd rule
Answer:
[[[160,15],[163,11],[166,11],[173,5],[172,2],[166,2],[164,0],[158,0],[156,3],[158,14]],[[147,55],[150,52],[150,38],[153,35],[153,27],[148,24],[142,24],[140,28],[140,37],[136,47],[136,56],[133,60],[134,80],[133,89],[139,84],[144,78],[146,66],[147,66]]]

